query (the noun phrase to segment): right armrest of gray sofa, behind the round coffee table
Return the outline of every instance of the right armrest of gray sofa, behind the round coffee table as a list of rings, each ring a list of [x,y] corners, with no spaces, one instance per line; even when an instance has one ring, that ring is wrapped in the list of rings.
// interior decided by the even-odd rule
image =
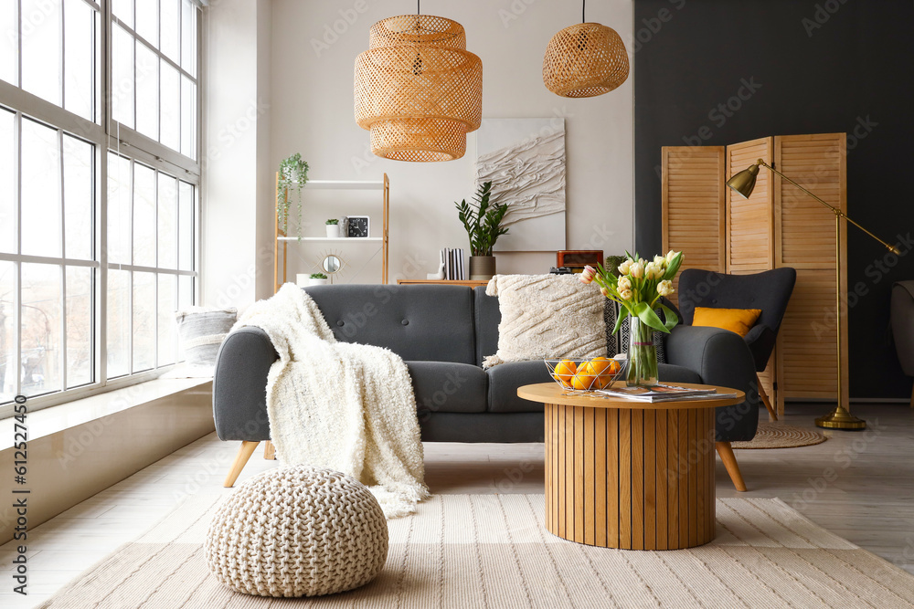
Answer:
[[[739,389],[746,402],[717,408],[717,442],[751,440],[759,425],[755,362],[739,334],[719,328],[676,326],[666,337],[666,360],[706,384]]]

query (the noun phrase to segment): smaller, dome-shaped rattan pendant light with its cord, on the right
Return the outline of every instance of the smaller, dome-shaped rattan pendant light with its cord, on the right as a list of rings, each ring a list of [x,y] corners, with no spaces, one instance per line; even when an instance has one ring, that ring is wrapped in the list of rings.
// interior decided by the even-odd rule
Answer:
[[[546,47],[543,82],[564,98],[590,98],[609,93],[628,78],[628,53],[611,27],[587,23],[581,1],[581,22],[558,32]]]

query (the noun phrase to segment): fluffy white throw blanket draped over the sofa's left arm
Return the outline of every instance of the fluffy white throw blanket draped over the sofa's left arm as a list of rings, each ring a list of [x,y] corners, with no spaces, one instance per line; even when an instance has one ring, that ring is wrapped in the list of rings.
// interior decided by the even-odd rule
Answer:
[[[356,478],[388,518],[429,497],[416,397],[399,355],[337,342],[314,300],[292,283],[253,304],[241,326],[265,331],[280,356],[267,377],[267,414],[284,465]]]

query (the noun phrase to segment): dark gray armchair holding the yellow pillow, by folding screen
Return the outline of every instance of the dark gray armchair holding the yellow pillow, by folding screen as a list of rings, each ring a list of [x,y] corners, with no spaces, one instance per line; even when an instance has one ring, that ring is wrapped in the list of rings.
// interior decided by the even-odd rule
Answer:
[[[696,307],[711,309],[760,309],[759,319],[743,337],[752,352],[756,373],[763,372],[771,358],[781,321],[787,311],[797,272],[775,268],[752,275],[725,275],[688,268],[679,277],[679,310],[686,325],[692,325]],[[756,376],[758,379],[758,374]],[[778,415],[761,382],[759,394],[774,421]]]

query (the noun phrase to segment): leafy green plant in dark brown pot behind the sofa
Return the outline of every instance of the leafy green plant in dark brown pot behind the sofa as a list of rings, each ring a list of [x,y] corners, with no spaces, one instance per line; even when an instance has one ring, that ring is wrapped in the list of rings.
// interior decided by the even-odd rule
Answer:
[[[502,219],[508,211],[508,205],[498,205],[491,200],[492,183],[480,184],[473,202],[463,199],[457,206],[457,216],[466,229],[470,239],[470,278],[491,279],[495,274],[495,257],[492,248],[499,236],[505,235],[508,229],[501,226]]]

